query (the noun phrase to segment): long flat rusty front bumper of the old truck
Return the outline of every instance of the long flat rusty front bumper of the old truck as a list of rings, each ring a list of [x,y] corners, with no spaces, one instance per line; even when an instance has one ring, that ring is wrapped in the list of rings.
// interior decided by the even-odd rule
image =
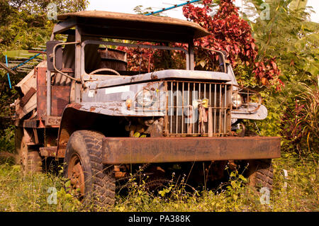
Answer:
[[[279,157],[280,137],[106,137],[103,139],[103,164]]]

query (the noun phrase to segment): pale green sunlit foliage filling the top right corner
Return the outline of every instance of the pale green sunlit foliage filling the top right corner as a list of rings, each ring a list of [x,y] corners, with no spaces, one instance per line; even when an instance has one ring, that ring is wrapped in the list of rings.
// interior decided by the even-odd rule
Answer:
[[[257,9],[260,2],[254,1]],[[270,18],[252,23],[259,46],[258,59],[276,58],[282,81],[311,81],[319,69],[319,25],[304,9],[289,8],[290,1],[269,1]]]

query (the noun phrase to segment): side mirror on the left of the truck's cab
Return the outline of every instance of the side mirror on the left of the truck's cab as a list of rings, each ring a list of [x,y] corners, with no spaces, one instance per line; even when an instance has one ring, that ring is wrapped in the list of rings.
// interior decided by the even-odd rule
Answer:
[[[53,48],[55,45],[61,43],[60,41],[48,41],[47,42],[47,69],[50,72],[55,72],[53,67]],[[62,45],[55,48],[55,67],[58,70],[62,69]]]

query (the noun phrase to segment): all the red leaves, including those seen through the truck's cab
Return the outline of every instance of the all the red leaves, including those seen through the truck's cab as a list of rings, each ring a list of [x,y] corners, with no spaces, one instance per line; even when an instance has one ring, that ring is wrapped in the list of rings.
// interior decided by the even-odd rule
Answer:
[[[239,17],[233,0],[220,0],[220,7],[213,18],[209,15],[212,11],[209,7],[210,4],[212,4],[212,0],[203,0],[203,7],[194,6],[193,4],[183,7],[183,13],[186,18],[198,23],[212,34],[194,40],[194,45],[225,51],[233,67],[238,62],[247,65],[247,67],[254,65],[253,73],[263,84],[268,84],[269,80],[278,78],[280,71],[274,59],[255,62],[258,50],[255,40],[252,38],[252,30],[247,21]],[[175,43],[174,46],[182,47],[184,44]],[[206,69],[213,69],[213,63],[218,60],[218,55],[206,52],[206,50],[196,49],[195,51],[197,61],[202,62],[202,66],[203,62],[205,62]],[[183,54],[173,54],[169,57],[172,57],[175,62],[179,62],[180,65],[184,64],[181,60],[184,57]],[[163,53],[140,49],[128,50],[128,67],[133,70],[147,70],[149,64],[152,69],[159,66],[161,66],[159,68],[167,68],[164,66],[172,68],[172,65],[164,63],[167,59],[168,57]],[[282,83],[279,79],[277,81],[279,85]]]

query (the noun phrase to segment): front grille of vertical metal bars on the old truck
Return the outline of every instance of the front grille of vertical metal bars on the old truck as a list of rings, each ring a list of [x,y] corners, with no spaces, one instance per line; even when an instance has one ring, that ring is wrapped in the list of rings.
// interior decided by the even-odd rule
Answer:
[[[165,81],[165,86],[164,135],[223,136],[230,132],[231,84]]]

